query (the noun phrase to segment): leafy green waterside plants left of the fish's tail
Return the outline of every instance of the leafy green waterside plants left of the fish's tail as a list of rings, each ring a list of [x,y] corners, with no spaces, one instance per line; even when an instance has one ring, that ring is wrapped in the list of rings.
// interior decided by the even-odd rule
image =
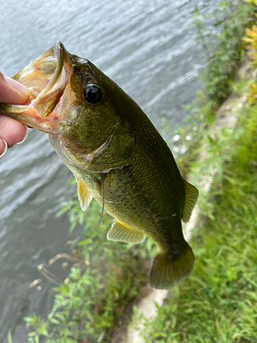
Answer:
[[[56,287],[53,309],[46,319],[34,315],[25,318],[31,331],[28,343],[112,342],[123,335],[130,322],[132,304],[144,294],[149,280],[149,257],[154,243],[125,244],[108,241],[106,233],[113,218],[103,215],[93,200],[81,211],[78,200],[62,205],[59,214],[69,211],[71,229],[84,226],[84,237],[77,244],[79,265],[71,268],[69,282]]]

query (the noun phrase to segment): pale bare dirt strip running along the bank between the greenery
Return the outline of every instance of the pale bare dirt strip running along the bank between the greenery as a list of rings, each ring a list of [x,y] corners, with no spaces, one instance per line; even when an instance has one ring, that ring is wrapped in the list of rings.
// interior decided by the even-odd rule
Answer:
[[[251,68],[251,63],[245,59],[245,61],[242,63],[241,67],[238,69],[236,73],[236,78],[239,79],[247,79],[250,80],[254,78],[257,71]],[[212,130],[220,130],[223,127],[226,128],[235,128],[236,126],[236,120],[238,115],[238,109],[242,108],[243,105],[246,102],[245,95],[236,95],[232,93],[225,101],[219,106],[219,109],[217,110],[216,118],[217,121],[208,128],[210,132]],[[206,151],[204,147],[202,147],[199,158],[197,161],[201,163],[201,161],[206,158]],[[194,178],[192,181],[192,177],[188,178],[188,182],[194,182],[194,185],[208,194],[210,191],[210,187],[212,186],[213,178],[215,177],[215,174],[217,173],[217,170],[215,170],[215,165],[210,167],[212,169],[212,174],[207,175],[206,177],[200,177],[200,179],[197,181],[197,179]],[[199,206],[196,205],[195,209],[193,209],[193,213],[191,216],[191,220],[187,224],[183,224],[183,231],[184,231],[184,237],[186,241],[191,241],[193,237],[193,231],[195,230],[201,230],[201,226],[203,225],[203,218],[201,214],[199,213]],[[197,261],[195,261],[197,263]],[[190,276],[189,276],[190,278]],[[138,316],[143,316],[144,318],[147,318],[148,320],[156,318],[158,316],[158,310],[156,307],[156,304],[158,307],[162,307],[164,300],[168,297],[172,296],[172,289],[169,290],[160,290],[160,289],[151,289],[149,294],[142,298],[140,302],[137,305],[137,311],[138,313],[133,316],[132,322],[136,322],[136,328],[128,327],[127,329],[127,339],[126,341],[121,341],[120,343],[145,343],[145,340],[143,339],[142,335],[142,329],[144,328],[143,321],[137,320]]]

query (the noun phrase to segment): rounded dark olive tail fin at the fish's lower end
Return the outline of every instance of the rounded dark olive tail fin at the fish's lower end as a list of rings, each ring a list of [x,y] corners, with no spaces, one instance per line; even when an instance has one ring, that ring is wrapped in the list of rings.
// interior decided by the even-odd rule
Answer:
[[[157,253],[151,267],[150,284],[157,289],[170,289],[186,279],[193,270],[195,257],[190,246],[169,255]]]

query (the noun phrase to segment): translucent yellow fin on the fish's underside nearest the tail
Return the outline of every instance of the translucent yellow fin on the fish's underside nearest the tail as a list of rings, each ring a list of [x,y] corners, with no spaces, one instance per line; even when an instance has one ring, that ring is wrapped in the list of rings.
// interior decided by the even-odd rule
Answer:
[[[125,241],[127,243],[140,243],[145,239],[143,233],[130,228],[123,222],[115,220],[112,227],[108,231],[107,239],[110,241]]]

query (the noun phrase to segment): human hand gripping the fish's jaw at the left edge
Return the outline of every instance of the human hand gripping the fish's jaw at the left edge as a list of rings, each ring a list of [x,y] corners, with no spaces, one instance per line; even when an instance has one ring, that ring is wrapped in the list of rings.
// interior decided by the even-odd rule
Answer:
[[[23,105],[29,99],[26,87],[3,76],[0,72],[0,103]],[[22,143],[27,137],[27,126],[0,113],[0,158],[8,147]]]

